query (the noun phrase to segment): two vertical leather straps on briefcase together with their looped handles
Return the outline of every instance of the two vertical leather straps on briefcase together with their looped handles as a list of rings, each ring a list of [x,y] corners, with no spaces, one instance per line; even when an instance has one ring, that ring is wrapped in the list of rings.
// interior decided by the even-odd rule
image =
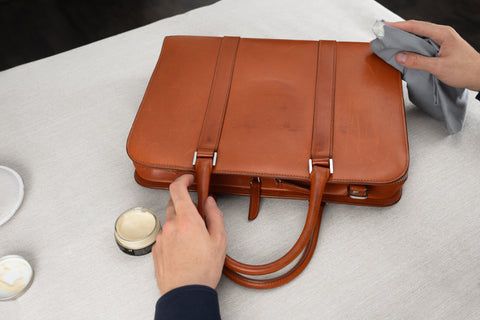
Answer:
[[[224,38],[222,41],[210,100],[197,148],[195,168],[199,211],[202,216],[203,203],[208,196],[210,175],[215,165],[215,151],[220,139],[237,47],[238,38]],[[335,59],[336,42],[319,41],[315,112],[312,128],[310,202],[305,226],[295,245],[283,257],[271,263],[248,265],[227,255],[224,274],[241,285],[256,289],[278,287],[300,274],[313,255],[324,207],[322,196],[332,172]],[[265,275],[279,271],[292,263],[302,252],[303,255],[296,265],[279,277],[253,279],[244,276]]]

